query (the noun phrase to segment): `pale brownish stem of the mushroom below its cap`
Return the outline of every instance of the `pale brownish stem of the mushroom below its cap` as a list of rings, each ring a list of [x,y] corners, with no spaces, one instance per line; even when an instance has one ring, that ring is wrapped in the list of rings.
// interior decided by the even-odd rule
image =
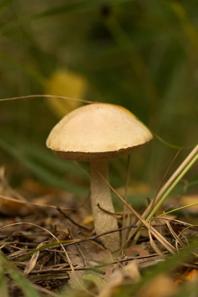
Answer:
[[[114,212],[109,186],[101,176],[99,176],[99,173],[108,182],[108,161],[91,162],[90,164],[91,204],[96,234],[118,228],[116,217],[99,208],[100,206],[106,211]],[[115,251],[120,247],[119,232],[107,234],[99,239],[110,251]]]

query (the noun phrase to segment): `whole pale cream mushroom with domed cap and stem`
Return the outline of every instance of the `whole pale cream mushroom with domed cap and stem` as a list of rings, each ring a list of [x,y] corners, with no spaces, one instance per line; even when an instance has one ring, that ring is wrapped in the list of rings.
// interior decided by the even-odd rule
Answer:
[[[90,162],[90,197],[96,234],[118,228],[116,217],[110,214],[114,212],[110,189],[99,173],[108,181],[108,160],[129,154],[151,139],[148,128],[129,110],[108,103],[81,106],[51,130],[47,147],[55,155]],[[118,232],[100,240],[110,251],[120,247]]]

